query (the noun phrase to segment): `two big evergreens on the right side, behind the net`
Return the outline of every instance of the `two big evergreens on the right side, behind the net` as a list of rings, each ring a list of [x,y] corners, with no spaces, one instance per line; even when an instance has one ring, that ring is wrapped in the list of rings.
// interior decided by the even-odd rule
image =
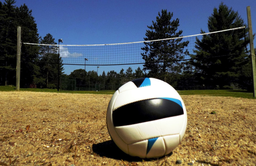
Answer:
[[[173,13],[162,10],[156,22],[148,26],[145,41],[182,36],[178,31],[179,19],[172,19]],[[143,71],[149,77],[168,82],[173,87],[204,87],[208,89],[241,88],[253,90],[252,63],[247,51],[248,27],[237,11],[221,3],[208,17],[209,32],[245,26],[244,29],[196,37],[195,49],[184,48],[189,41],[181,39],[147,42],[141,54],[145,60]],[[201,34],[205,33],[201,29]],[[253,37],[255,34],[253,35]],[[189,56],[189,61],[184,60]],[[191,88],[190,88],[191,89]]]

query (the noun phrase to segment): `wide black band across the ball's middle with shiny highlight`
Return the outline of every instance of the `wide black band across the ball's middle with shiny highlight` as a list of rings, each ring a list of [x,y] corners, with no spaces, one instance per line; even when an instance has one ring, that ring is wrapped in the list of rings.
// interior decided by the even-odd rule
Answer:
[[[178,103],[156,98],[124,105],[113,111],[112,118],[114,126],[124,126],[183,114],[183,108]]]

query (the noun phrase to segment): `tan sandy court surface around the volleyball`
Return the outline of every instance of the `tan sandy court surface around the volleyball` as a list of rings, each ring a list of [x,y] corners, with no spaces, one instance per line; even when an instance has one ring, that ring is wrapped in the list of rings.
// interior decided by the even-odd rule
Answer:
[[[255,165],[256,100],[182,95],[188,125],[172,155],[141,160],[108,134],[112,95],[0,92],[0,165]],[[215,114],[211,114],[215,111]]]

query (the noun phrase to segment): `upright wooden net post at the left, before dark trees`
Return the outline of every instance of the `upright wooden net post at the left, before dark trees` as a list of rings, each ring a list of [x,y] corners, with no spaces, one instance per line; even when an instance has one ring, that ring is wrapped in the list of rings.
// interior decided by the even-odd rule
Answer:
[[[16,65],[16,90],[20,90],[20,54],[21,54],[21,27],[17,28],[17,65]]]

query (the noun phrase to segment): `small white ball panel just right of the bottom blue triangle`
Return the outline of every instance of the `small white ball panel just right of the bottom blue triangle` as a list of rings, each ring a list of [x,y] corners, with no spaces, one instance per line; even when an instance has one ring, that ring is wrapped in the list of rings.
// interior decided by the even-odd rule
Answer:
[[[161,157],[165,154],[165,146],[163,137],[157,138],[151,149],[148,151],[147,158]]]

